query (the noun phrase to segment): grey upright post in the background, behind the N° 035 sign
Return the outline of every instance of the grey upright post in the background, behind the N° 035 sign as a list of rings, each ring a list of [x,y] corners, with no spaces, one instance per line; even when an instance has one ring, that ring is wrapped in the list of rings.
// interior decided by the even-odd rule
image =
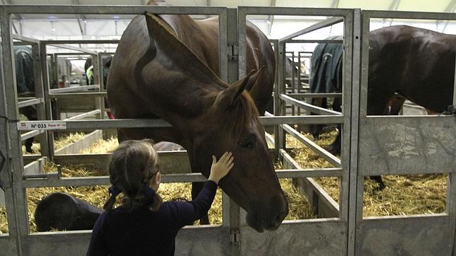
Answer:
[[[41,60],[41,70],[42,70],[42,88],[45,97],[45,112],[46,120],[52,120],[52,103],[51,98],[49,97],[50,89],[50,79],[49,71],[47,69],[47,52],[46,45],[40,42],[40,60]],[[57,66],[57,56],[54,55],[55,66]],[[55,74],[57,75],[57,68],[53,67]],[[55,76],[56,76],[55,75]],[[41,151],[42,156],[47,156],[49,161],[54,161],[54,133],[52,131],[46,131],[47,133],[47,151]]]

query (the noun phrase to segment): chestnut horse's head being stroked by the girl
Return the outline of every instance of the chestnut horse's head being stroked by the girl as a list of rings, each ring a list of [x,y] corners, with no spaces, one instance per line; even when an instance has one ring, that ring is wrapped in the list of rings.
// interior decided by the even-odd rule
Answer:
[[[234,168],[220,181],[220,187],[246,209],[249,226],[262,232],[280,226],[288,204],[270,160],[258,111],[244,91],[255,82],[251,74],[215,95],[212,107],[197,121],[200,128],[193,136],[191,151],[195,165],[206,177],[212,154],[220,157],[224,151],[233,152]]]

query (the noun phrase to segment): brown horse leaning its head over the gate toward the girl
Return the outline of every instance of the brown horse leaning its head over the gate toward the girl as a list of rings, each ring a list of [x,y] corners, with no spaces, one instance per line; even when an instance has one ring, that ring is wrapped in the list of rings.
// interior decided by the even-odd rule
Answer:
[[[192,170],[206,177],[212,154],[232,151],[234,168],[220,187],[246,209],[249,226],[261,232],[280,226],[288,204],[258,119],[272,92],[273,51],[266,36],[247,25],[247,69],[258,71],[229,85],[216,75],[217,18],[135,17],[110,66],[108,99],[116,118],[159,117],[173,126],[119,129],[120,141],[150,138],[180,144]]]

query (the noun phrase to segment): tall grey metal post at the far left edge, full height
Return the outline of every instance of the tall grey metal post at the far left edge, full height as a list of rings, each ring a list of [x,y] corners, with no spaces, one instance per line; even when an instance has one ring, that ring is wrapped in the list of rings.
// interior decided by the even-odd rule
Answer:
[[[6,11],[1,12],[1,50],[3,54],[4,71],[4,99],[6,103],[6,145],[9,158],[9,168],[12,170],[12,194],[6,194],[8,203],[13,202],[13,215],[16,217],[16,228],[13,237],[16,237],[18,254],[21,255],[21,238],[28,235],[28,212],[25,204],[25,189],[22,184],[23,160],[22,160],[22,141],[18,131],[18,104],[16,90],[16,76],[14,70],[13,38],[11,37],[11,15]],[[11,211],[10,211],[11,214]],[[10,218],[8,218],[10,219]],[[11,233],[10,233],[11,235]]]

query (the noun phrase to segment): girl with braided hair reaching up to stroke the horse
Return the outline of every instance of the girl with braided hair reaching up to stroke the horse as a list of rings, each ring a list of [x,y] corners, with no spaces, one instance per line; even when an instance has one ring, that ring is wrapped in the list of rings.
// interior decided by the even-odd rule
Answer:
[[[192,202],[165,202],[156,193],[159,161],[149,141],[124,141],[111,156],[110,197],[93,226],[87,255],[174,255],[176,235],[183,226],[210,209],[217,184],[233,168],[231,152],[217,161],[212,156],[210,176]],[[113,209],[122,192],[122,205]]]

